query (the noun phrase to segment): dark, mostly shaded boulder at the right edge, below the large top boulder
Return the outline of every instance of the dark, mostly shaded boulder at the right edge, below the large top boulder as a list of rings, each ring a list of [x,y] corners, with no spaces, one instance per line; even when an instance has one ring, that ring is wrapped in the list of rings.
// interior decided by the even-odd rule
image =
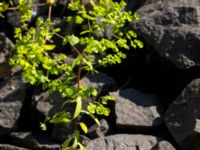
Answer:
[[[200,149],[200,79],[193,80],[170,105],[165,122],[183,149]]]

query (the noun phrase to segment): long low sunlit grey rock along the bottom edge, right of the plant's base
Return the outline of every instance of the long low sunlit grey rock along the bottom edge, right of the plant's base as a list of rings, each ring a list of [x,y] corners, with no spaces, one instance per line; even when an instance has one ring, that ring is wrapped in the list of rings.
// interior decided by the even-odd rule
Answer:
[[[151,150],[158,142],[154,136],[117,134],[95,139],[86,147],[88,150]]]

